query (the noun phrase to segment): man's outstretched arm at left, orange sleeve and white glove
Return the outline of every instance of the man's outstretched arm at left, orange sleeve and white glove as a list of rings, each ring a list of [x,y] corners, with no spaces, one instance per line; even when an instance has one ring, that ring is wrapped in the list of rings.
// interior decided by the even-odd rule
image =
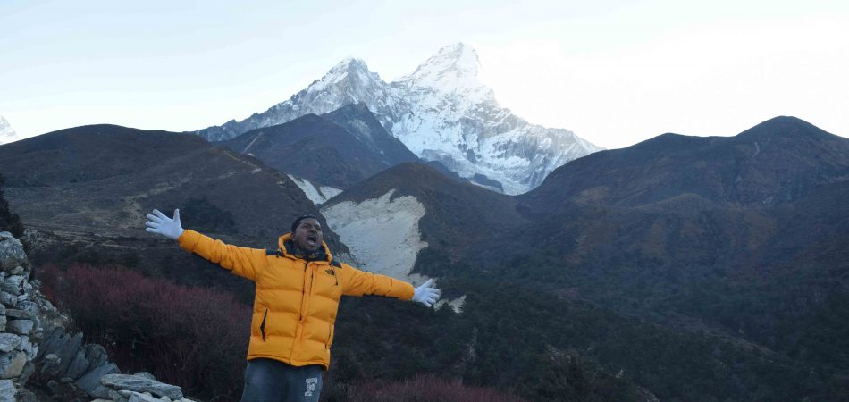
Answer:
[[[195,230],[185,230],[180,222],[180,210],[174,210],[174,217],[153,210],[147,215],[145,230],[180,242],[180,247],[189,253],[200,255],[224,269],[253,281],[257,272],[265,268],[265,250],[236,247],[224,244]]]

